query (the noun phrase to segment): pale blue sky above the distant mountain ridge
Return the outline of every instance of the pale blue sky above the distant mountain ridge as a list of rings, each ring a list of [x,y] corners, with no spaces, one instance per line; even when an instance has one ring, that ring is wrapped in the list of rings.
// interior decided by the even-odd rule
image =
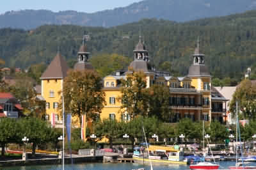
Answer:
[[[51,10],[53,12],[75,10],[98,12],[124,7],[142,0],[6,0],[0,5],[0,13],[18,10]]]

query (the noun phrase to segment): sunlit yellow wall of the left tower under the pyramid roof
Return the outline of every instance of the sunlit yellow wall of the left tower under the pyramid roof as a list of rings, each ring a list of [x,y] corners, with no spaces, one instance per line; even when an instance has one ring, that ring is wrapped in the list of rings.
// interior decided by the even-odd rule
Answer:
[[[43,79],[42,80],[42,96],[45,102],[50,103],[50,108],[46,108],[46,114],[49,115],[51,121],[51,114],[58,114],[59,119],[62,117],[60,110],[58,108],[53,108],[53,102],[58,102],[59,106],[61,104],[61,91],[62,89],[62,79]],[[50,97],[50,90],[54,91],[54,97]]]

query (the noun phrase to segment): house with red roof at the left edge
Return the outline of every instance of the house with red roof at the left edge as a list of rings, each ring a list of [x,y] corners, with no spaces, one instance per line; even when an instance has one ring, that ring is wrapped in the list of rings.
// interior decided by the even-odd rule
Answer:
[[[22,106],[12,93],[0,93],[0,118],[19,118]]]

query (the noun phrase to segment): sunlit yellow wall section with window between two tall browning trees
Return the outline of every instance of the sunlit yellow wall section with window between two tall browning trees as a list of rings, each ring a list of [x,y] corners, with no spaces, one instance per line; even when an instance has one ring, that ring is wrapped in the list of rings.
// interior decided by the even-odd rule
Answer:
[[[104,90],[106,93],[106,105],[102,109],[102,112],[100,113],[100,119],[108,119],[110,113],[115,113],[116,115],[116,120],[120,121],[121,120],[121,113],[120,113],[120,106],[121,102],[118,101],[118,97],[121,97],[122,93],[120,92],[120,89],[113,89],[113,90]],[[109,104],[109,97],[115,97],[115,104]]]

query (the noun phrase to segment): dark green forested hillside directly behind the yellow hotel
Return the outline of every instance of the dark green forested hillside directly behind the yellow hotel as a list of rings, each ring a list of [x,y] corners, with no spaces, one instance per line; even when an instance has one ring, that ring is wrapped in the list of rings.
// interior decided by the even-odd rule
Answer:
[[[111,28],[41,26],[33,31],[0,29],[0,58],[6,61],[6,66],[27,68],[35,63],[50,63],[60,47],[61,54],[68,61],[74,61],[84,34],[91,37],[86,43],[92,58],[104,53],[132,58],[141,32],[151,62],[157,68],[163,68],[163,62],[170,61],[170,70],[186,75],[199,36],[200,50],[206,56],[212,75],[221,79],[241,79],[248,66],[256,65],[255,16],[256,11],[252,11],[183,24],[145,19]]]

